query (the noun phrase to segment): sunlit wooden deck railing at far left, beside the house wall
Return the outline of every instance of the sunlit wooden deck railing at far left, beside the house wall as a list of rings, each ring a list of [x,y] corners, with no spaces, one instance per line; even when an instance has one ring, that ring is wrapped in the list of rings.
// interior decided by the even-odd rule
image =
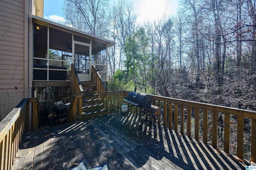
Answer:
[[[32,130],[38,129],[39,110],[36,98],[22,101],[0,122],[0,169],[10,170],[24,132],[30,129],[30,105],[32,103]]]

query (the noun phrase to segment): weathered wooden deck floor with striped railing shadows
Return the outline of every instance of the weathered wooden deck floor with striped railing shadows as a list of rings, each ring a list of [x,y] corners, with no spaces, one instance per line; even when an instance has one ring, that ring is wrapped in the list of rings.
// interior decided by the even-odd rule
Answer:
[[[30,136],[30,137],[29,137]],[[231,155],[138,115],[112,113],[26,133],[12,169],[245,169]],[[62,168],[64,166],[64,168]]]

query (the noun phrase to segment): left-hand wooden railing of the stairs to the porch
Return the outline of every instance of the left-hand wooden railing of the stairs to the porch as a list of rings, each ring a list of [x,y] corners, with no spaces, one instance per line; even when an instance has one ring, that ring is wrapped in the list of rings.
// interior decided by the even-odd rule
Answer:
[[[74,63],[71,64],[70,83],[73,98],[68,109],[67,120],[68,122],[74,122],[77,121],[77,114],[79,119],[82,119],[82,98],[84,93]]]

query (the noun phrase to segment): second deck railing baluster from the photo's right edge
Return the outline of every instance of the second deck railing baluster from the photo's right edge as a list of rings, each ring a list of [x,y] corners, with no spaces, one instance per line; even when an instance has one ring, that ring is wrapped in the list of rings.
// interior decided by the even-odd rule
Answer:
[[[244,158],[244,117],[237,116],[237,156]]]

